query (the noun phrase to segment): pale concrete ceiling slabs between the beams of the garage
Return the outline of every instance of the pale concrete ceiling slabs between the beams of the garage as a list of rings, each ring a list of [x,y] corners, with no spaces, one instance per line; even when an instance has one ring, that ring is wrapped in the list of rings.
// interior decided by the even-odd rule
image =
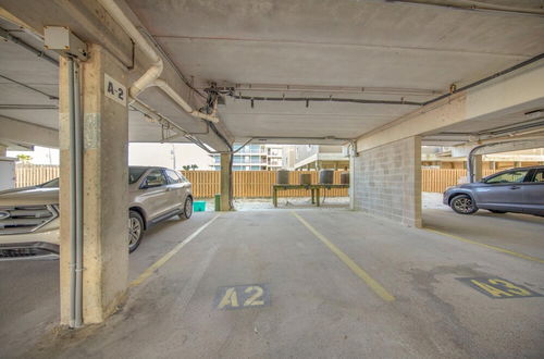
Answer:
[[[542,5],[540,0],[493,2]],[[506,12],[383,0],[131,0],[126,5],[198,88],[212,82],[235,88],[235,97],[225,96],[219,115],[237,141],[258,137],[271,143],[334,143],[333,137],[356,138],[417,106],[333,101],[251,106],[236,96],[425,102],[446,94],[452,84],[461,87],[544,52],[544,17]],[[3,21],[0,25],[20,32]],[[28,34],[13,35],[41,46]],[[57,94],[57,69],[25,49],[0,42],[0,75]],[[180,116],[180,110],[157,90],[147,90],[143,99],[168,116]],[[0,104],[57,101],[0,77]],[[495,123],[444,131],[478,133],[497,123],[522,121],[530,110],[518,109]],[[1,114],[58,127],[54,109],[0,108]],[[134,111],[129,119],[131,140],[162,139],[157,124]],[[206,131],[198,121],[185,127]]]

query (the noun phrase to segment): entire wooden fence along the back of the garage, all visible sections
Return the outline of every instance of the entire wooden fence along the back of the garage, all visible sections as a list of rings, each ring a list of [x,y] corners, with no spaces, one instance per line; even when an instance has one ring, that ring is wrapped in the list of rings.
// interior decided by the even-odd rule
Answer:
[[[497,170],[498,171],[498,170]],[[483,175],[487,176],[497,172],[495,170],[484,170]],[[334,183],[339,184],[341,173],[334,172]],[[301,173],[309,173],[311,182],[318,183],[319,173],[317,171],[293,171],[289,173],[289,183],[299,184]],[[219,171],[183,171],[183,174],[193,183],[193,193],[197,198],[210,198],[219,193]],[[274,171],[234,171],[233,190],[234,197],[256,198],[272,197],[272,185],[275,184],[276,172]],[[53,180],[59,176],[58,165],[17,163],[15,170],[16,187],[34,186]],[[455,186],[459,182],[466,182],[467,170],[421,170],[421,185],[423,191],[442,193],[449,186]],[[289,189],[282,190],[281,196],[305,197],[309,196],[308,190]],[[326,196],[346,197],[347,188],[335,188],[326,190]]]

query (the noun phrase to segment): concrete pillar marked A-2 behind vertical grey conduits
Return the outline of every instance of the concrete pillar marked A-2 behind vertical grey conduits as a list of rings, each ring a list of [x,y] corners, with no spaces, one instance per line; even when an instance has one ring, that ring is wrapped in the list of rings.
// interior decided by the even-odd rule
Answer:
[[[102,322],[123,300],[128,282],[127,71],[103,48],[89,46],[81,64],[83,107],[83,299],[84,324]],[[104,76],[116,99],[107,97]],[[122,87],[125,86],[123,89]],[[120,89],[124,90],[120,97]],[[60,61],[61,323],[70,321],[70,115],[67,61]],[[124,99],[124,101],[122,100]]]

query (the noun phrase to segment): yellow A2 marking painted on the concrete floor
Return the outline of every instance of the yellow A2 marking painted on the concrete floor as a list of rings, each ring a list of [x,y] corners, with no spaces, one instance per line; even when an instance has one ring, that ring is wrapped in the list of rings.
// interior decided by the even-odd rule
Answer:
[[[217,309],[242,309],[270,305],[270,293],[265,284],[219,287],[215,294]]]

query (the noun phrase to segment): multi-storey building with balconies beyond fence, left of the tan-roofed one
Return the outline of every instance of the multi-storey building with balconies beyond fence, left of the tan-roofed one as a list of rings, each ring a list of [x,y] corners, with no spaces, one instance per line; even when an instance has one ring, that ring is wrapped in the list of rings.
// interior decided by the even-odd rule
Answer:
[[[235,144],[237,150],[242,145]],[[283,166],[282,145],[250,144],[234,154],[233,171],[276,171]],[[221,158],[212,154],[213,169],[221,170]]]

